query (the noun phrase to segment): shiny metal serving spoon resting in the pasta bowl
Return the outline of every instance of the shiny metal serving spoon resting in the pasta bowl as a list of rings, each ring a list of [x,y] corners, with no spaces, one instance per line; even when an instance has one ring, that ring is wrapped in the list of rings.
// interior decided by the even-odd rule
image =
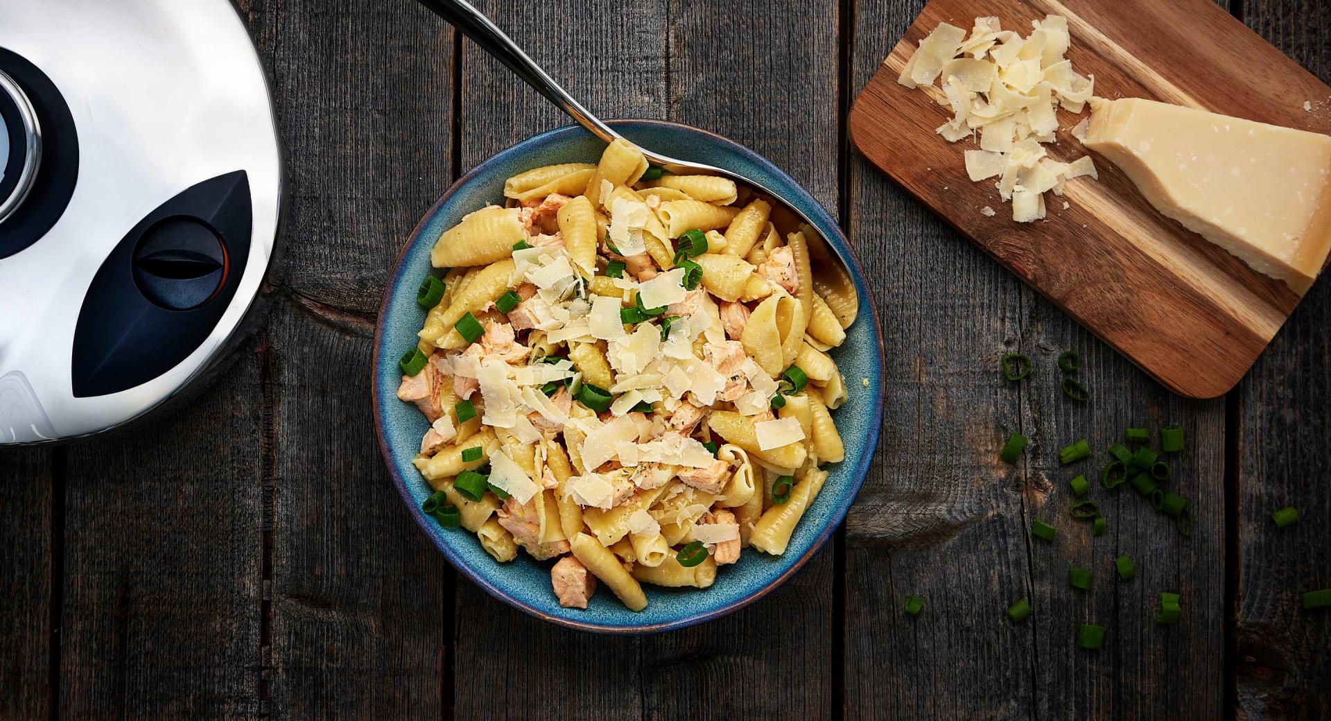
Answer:
[[[546,100],[558,105],[560,110],[567,113],[568,117],[576,120],[579,125],[586,128],[594,136],[606,142],[611,142],[622,137],[608,125],[602,122],[600,118],[587,112],[580,102],[574,100],[567,90],[560,88],[558,82],[546,74],[546,71],[540,69],[540,65],[536,65],[536,63],[528,57],[527,53],[522,52],[522,48],[519,48],[516,43],[514,43],[507,35],[503,33],[503,31],[496,28],[488,17],[482,15],[476,8],[471,7],[471,4],[466,0],[419,0],[419,3],[457,27],[476,45],[480,45],[483,51],[499,59],[499,61],[507,65],[508,69],[518,73],[518,77],[523,78],[527,85],[535,88],[535,90],[543,94]],[[849,301],[837,303],[843,307],[833,309],[833,313],[836,313],[841,319],[843,326],[849,326],[851,322],[855,321],[855,310],[858,309],[860,299],[856,293],[855,283],[851,282],[849,263],[841,257],[840,251],[823,238],[823,234],[817,231],[817,226],[813,225],[813,221],[805,216],[804,212],[787,202],[763,184],[740,176],[739,173],[732,173],[724,168],[713,168],[700,162],[676,160],[655,153],[647,148],[639,148],[647,157],[648,162],[659,165],[676,176],[720,176],[733,180],[740,186],[747,186],[751,192],[767,200],[772,205],[772,214],[775,219],[781,219],[784,216],[797,223],[809,243],[809,255],[815,263],[815,285],[827,285],[829,289],[835,289],[835,293],[839,297]]]

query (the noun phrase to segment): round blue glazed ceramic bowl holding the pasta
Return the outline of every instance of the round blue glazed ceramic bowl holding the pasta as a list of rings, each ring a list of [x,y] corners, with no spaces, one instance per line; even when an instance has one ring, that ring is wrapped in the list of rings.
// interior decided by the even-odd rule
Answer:
[[[644,148],[759,180],[799,205],[835,250],[851,258],[845,235],[823,206],[753,152],[720,136],[672,122],[630,120],[611,125]],[[723,567],[716,584],[705,591],[646,585],[650,604],[634,613],[602,587],[587,609],[562,608],[550,588],[552,561],[535,561],[519,553],[518,560],[500,565],[480,549],[473,533],[441,528],[421,511],[421,503],[431,491],[411,466],[427,423],[415,406],[397,398],[402,380],[398,358],[415,345],[415,334],[425,321],[425,310],[417,305],[415,295],[421,278],[430,270],[430,249],[439,233],[462,216],[486,204],[502,205],[504,178],[540,165],[596,162],[603,148],[602,141],[576,126],[524,140],[467,173],[421,218],[402,247],[379,310],[374,338],[374,414],[383,460],[407,511],[458,571],[508,605],[556,624],[608,633],[650,633],[716,619],[752,603],[795,573],[832,536],[860,491],[877,446],[882,411],[882,338],[864,274],[852,259],[860,314],[847,331],[845,343],[832,353],[851,395],[833,414],[845,443],[845,462],[832,466],[827,484],[796,528],[784,556],[745,549],[740,561]]]

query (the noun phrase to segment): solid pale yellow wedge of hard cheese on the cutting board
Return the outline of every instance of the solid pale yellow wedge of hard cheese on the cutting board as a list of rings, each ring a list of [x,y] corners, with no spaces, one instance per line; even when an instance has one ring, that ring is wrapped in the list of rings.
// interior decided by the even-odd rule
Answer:
[[[1086,145],[1165,216],[1303,294],[1331,250],[1331,137],[1143,98],[1091,101]]]

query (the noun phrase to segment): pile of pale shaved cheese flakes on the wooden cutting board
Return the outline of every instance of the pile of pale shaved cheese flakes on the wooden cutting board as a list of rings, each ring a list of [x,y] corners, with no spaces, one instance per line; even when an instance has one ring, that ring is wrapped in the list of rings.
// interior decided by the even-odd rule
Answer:
[[[1070,43],[1065,17],[1049,15],[1030,24],[1022,37],[1002,29],[997,17],[977,17],[969,36],[944,23],[920,41],[897,78],[906,88],[940,81],[938,104],[953,117],[938,134],[949,142],[980,134],[980,149],[965,153],[966,176],[974,182],[997,177],[998,194],[1012,201],[1018,222],[1045,217],[1046,192],[1062,196],[1067,180],[1097,177],[1090,156],[1066,164],[1042,148],[1055,142],[1057,109],[1081,113],[1095,76],[1077,74],[1063,59]],[[1083,120],[1073,136],[1081,140],[1085,132]]]

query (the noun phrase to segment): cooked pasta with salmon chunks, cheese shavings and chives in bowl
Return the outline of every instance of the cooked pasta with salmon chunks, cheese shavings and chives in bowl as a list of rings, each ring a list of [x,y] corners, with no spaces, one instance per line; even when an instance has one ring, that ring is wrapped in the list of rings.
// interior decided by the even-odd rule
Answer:
[[[648,169],[620,140],[508,178],[439,235],[445,291],[402,360],[426,509],[496,563],[558,559],[568,608],[784,553],[845,456],[844,279],[732,181]]]

